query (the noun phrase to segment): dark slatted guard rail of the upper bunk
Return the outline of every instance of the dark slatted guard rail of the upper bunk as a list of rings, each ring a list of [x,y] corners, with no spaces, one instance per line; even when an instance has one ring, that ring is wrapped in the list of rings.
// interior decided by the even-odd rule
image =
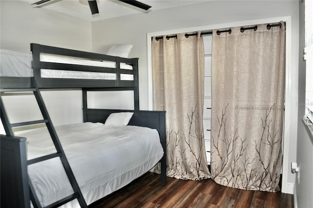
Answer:
[[[99,88],[99,87],[137,87],[138,86],[138,58],[122,58],[109,56],[105,54],[90,53],[79,50],[65,49],[53,46],[44,46],[39,44],[30,44],[33,54],[32,68],[34,78],[39,88]],[[85,66],[78,64],[66,64],[45,62],[41,60],[41,54],[47,54],[56,57],[67,57],[77,60],[92,60],[98,62],[115,63],[115,68]],[[121,69],[121,63],[131,65],[133,70]],[[67,70],[78,72],[99,72],[115,74],[115,79],[65,79],[64,78],[44,78],[41,69]],[[121,80],[121,74],[132,74],[133,80]]]

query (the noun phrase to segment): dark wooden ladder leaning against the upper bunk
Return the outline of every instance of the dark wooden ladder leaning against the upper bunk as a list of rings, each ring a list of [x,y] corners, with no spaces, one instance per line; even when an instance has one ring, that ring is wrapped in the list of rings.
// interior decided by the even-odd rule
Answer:
[[[69,163],[67,161],[67,158],[66,158],[66,155],[64,153],[64,150],[62,148],[62,145],[61,145],[61,142],[57,136],[57,133],[52,125],[52,122],[51,122],[51,119],[50,119],[50,116],[48,115],[48,111],[45,107],[45,103],[44,103],[44,100],[43,100],[43,97],[39,91],[39,88],[36,84],[36,81],[34,78],[31,78],[31,82],[32,82],[32,88],[26,88],[26,89],[22,89],[22,88],[19,88],[19,89],[1,89],[1,92],[33,92],[35,97],[36,97],[36,100],[37,100],[37,103],[38,103],[38,106],[41,110],[41,113],[43,115],[43,118],[42,120],[35,120],[35,121],[27,121],[27,122],[20,122],[20,123],[13,123],[11,124],[9,122],[9,119],[8,119],[8,116],[6,114],[6,111],[5,111],[5,108],[4,108],[4,105],[3,105],[3,102],[2,102],[2,99],[1,99],[1,102],[0,102],[0,113],[1,113],[1,120],[3,122],[3,126],[4,126],[4,129],[5,129],[5,132],[6,132],[6,135],[7,137],[14,137],[14,134],[13,134],[13,130],[12,128],[13,127],[19,127],[19,126],[27,126],[27,125],[34,125],[34,124],[40,124],[40,123],[45,123],[49,133],[50,133],[50,136],[51,136],[51,139],[54,143],[54,146],[57,150],[57,153],[53,153],[53,154],[50,154],[50,155],[45,155],[45,156],[42,156],[42,157],[39,157],[39,158],[35,158],[35,159],[32,159],[32,160],[28,160],[27,161],[27,164],[30,165],[30,164],[34,164],[34,163],[37,163],[37,162],[42,162],[42,161],[46,161],[46,160],[49,160],[49,159],[52,159],[52,158],[56,158],[56,157],[59,157],[62,164],[63,164],[63,167],[65,169],[65,172],[67,174],[67,177],[68,177],[68,180],[73,188],[73,191],[74,193],[67,196],[67,197],[64,197],[63,199],[57,201],[57,202],[54,202],[48,206],[46,206],[45,208],[57,208],[57,207],[60,207],[64,204],[66,204],[67,202],[69,201],[72,201],[74,199],[77,199],[80,206],[82,208],[87,208],[87,204],[85,202],[85,199],[82,195],[82,192],[79,188],[79,185],[77,184],[77,181],[75,179],[75,176],[69,166]],[[27,167],[27,166],[26,166]],[[26,170],[27,171],[27,170]],[[30,199],[32,201],[32,204],[34,206],[34,208],[42,208],[39,200],[38,200],[38,197],[36,195],[36,191],[35,191],[35,188],[31,182],[31,180],[29,179],[29,188],[30,188]]]

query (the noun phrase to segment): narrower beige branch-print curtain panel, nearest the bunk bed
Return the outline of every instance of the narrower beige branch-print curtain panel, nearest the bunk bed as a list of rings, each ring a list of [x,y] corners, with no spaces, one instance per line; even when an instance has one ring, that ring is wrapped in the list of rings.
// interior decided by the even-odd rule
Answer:
[[[203,136],[204,49],[198,36],[152,41],[154,110],[166,111],[167,176],[209,177]]]

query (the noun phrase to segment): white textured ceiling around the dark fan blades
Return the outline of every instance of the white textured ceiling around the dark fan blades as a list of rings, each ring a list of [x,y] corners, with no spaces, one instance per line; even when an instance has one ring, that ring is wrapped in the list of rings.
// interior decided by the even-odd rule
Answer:
[[[39,0],[22,0],[29,4]],[[75,18],[94,22],[120,16],[149,13],[150,11],[179,7],[187,4],[200,3],[204,0],[139,0],[142,3],[152,6],[148,11],[139,9],[118,0],[97,0],[99,14],[91,15],[87,0],[51,0],[34,9],[49,9],[60,12]],[[34,5],[32,5],[34,6]]]

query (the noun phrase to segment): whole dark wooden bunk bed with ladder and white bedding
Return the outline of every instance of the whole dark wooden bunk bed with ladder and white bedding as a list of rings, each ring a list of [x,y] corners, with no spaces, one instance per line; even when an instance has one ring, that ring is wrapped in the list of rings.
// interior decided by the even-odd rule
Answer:
[[[59,47],[43,46],[39,44],[31,44],[31,51],[31,71],[28,71],[26,72],[26,74],[22,75],[16,73],[17,75],[11,76],[9,74],[9,76],[0,77],[1,96],[5,95],[5,92],[27,92],[27,90],[34,92],[35,95],[37,94],[38,105],[41,109],[43,108],[42,113],[47,117],[45,123],[49,132],[51,129],[51,132],[53,134],[56,133],[56,141],[59,141],[58,139],[60,138],[60,141],[62,143],[61,145],[56,142],[57,144],[55,144],[55,147],[57,151],[58,148],[63,151],[62,146],[64,144],[64,151],[67,155],[68,162],[70,166],[73,166],[72,168],[67,168],[73,170],[72,175],[75,175],[75,177],[72,177],[73,180],[76,181],[75,178],[77,178],[78,185],[82,186],[80,188],[78,187],[78,193],[84,196],[87,204],[90,204],[104,197],[105,195],[114,192],[124,185],[127,185],[135,178],[138,178],[145,172],[149,171],[156,164],[156,162],[161,162],[161,181],[163,183],[166,182],[165,112],[139,110],[137,58],[129,59]],[[23,71],[26,71],[26,69],[23,69]],[[50,118],[45,109],[45,104],[39,91],[40,89],[56,88],[82,89],[84,123],[70,124],[59,127],[54,127],[52,124],[49,124]],[[89,91],[125,90],[131,90],[134,92],[134,110],[89,109],[87,106],[87,92]],[[18,125],[10,124],[2,103],[3,102],[1,100],[1,121],[5,128],[6,135],[1,135],[0,144],[1,207],[28,208],[31,206],[30,199],[32,200],[32,202],[36,200],[39,201],[39,204],[41,205],[39,205],[38,207],[54,207],[55,205],[53,205],[53,201],[60,200],[60,197],[62,198],[64,194],[67,194],[68,185],[66,187],[63,187],[62,185],[66,185],[68,183],[64,183],[60,178],[55,179],[56,181],[52,182],[52,184],[51,182],[49,182],[51,177],[53,177],[53,174],[49,175],[49,172],[55,173],[60,171],[54,166],[51,167],[51,165],[53,165],[53,162],[51,164],[38,161],[38,163],[34,162],[36,161],[36,157],[38,156],[37,153],[34,153],[32,150],[37,149],[39,150],[39,152],[41,151],[42,153],[44,152],[50,154],[50,147],[47,148],[49,150],[41,150],[41,144],[38,144],[43,142],[42,138],[46,137],[46,130],[35,130],[35,136],[33,136],[33,132],[26,133],[26,137],[15,136],[12,131],[12,127]],[[108,121],[108,117],[113,115],[120,115],[118,113],[131,115],[128,118],[129,122],[128,120],[126,122],[126,126],[125,124],[123,124],[121,127],[116,125],[105,125],[105,123]],[[35,121],[34,123],[38,122]],[[23,125],[32,125],[34,123],[22,122]],[[83,129],[85,128],[87,128],[87,133],[86,131],[83,132]],[[74,134],[68,136],[68,129],[72,129],[71,131]],[[105,131],[108,131],[109,134],[102,134],[102,132]],[[152,136],[147,137],[147,135],[150,134]],[[57,135],[59,135],[59,137]],[[93,135],[93,137],[91,137],[91,135]],[[123,135],[124,137],[129,137],[129,140],[134,140],[135,144],[130,144],[129,140],[122,140],[121,138]],[[27,137],[29,137],[30,142],[28,141]],[[53,138],[52,135],[51,137]],[[142,141],[145,140],[145,138],[146,140],[148,140],[148,144],[141,144],[143,143]],[[153,138],[154,140],[159,139],[159,141],[157,141],[156,144],[153,144]],[[103,142],[103,140],[105,139],[108,139],[106,144],[96,143],[99,140]],[[120,140],[121,142],[118,142],[118,140]],[[38,145],[30,146],[30,143],[37,143]],[[117,146],[119,145],[118,143],[122,143],[122,146]],[[57,145],[60,145],[60,147],[58,147]],[[99,146],[106,145],[109,146],[109,149],[98,149]],[[79,146],[79,148],[83,149],[75,149],[76,146]],[[153,153],[153,156],[151,156],[153,159],[146,162],[136,161],[140,157],[149,158],[149,154],[152,152],[152,149],[156,148],[155,146],[161,147],[161,152],[160,150],[158,150]],[[90,149],[88,150],[88,148]],[[98,152],[96,151],[96,149]],[[114,149],[116,151],[112,151]],[[133,156],[131,155],[133,154],[131,153],[132,150],[136,153],[142,153],[143,155],[138,157]],[[51,153],[51,155],[53,154],[56,153]],[[121,155],[118,156],[115,154]],[[100,158],[98,158],[98,155],[100,155]],[[122,161],[120,160],[112,162],[112,157],[122,158]],[[131,161],[135,163],[135,168],[129,168],[129,166],[131,166],[132,164],[130,164],[129,161],[125,160],[126,158],[130,158]],[[50,159],[49,161],[53,161],[53,159]],[[83,164],[78,163],[78,161],[83,161]],[[75,166],[76,163],[80,167]],[[104,166],[100,167],[101,164],[103,164]],[[114,166],[116,164],[124,164],[124,166],[122,166],[121,168],[122,170],[117,171],[117,167]],[[82,168],[82,165],[85,165],[86,167]],[[111,166],[113,169],[110,169]],[[84,176],[83,173],[81,173],[84,172],[85,169],[92,169],[92,167],[98,168],[95,172],[92,173],[86,171],[88,177]],[[46,171],[44,171],[44,169]],[[109,169],[109,173],[104,173],[107,174],[105,176],[101,175],[101,171],[105,171],[106,169]],[[129,169],[129,171],[125,172],[126,169]],[[42,172],[39,173],[39,175],[41,175],[41,177],[43,178],[36,179],[36,172]],[[128,175],[129,172],[132,172],[132,174]],[[97,176],[94,176],[94,178],[92,178],[90,175]],[[112,177],[112,181],[107,180],[108,177]],[[68,177],[70,183],[72,178],[71,176]],[[94,186],[90,185],[92,184],[90,181],[93,184],[97,184],[98,187],[94,188]],[[114,185],[111,186],[110,184]],[[73,189],[75,191],[74,187]],[[34,196],[32,194],[32,191],[30,190],[36,190],[35,192],[37,194],[35,194]],[[40,190],[42,192],[38,193]],[[59,196],[56,196],[56,198],[53,198],[52,196],[52,199],[46,198],[50,197],[50,195],[53,194],[57,194]],[[80,202],[79,197],[74,196],[74,199],[75,198],[78,199],[78,202],[77,200],[72,200],[72,198],[68,198],[67,201],[65,200],[62,205],[64,207],[77,207],[79,205],[81,207],[84,207],[82,206],[82,204],[84,203]],[[34,207],[37,207],[37,205]]]

